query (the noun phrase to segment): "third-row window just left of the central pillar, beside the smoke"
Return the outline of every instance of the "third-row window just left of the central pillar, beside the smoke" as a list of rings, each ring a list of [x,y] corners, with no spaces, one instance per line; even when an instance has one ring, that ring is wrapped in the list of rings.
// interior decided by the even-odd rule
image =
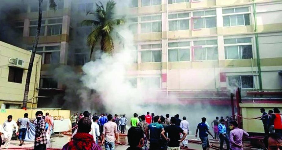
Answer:
[[[161,44],[141,45],[141,62],[161,62]]]

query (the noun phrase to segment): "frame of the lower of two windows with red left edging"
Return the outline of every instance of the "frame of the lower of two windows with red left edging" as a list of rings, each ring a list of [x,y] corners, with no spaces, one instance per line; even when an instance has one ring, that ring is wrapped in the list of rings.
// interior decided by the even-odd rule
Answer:
[[[217,42],[217,39],[208,39],[208,40],[216,40]],[[203,41],[203,40],[193,40],[193,61],[218,61],[218,42],[217,44],[210,44],[210,45],[207,45],[207,41],[208,40],[204,40],[205,41],[205,45],[194,45],[194,42],[195,41]],[[217,48],[217,59],[211,59],[211,60],[208,60],[207,59],[207,48],[208,47],[216,47]],[[205,59],[204,60],[195,60],[195,49],[197,48],[205,48]]]

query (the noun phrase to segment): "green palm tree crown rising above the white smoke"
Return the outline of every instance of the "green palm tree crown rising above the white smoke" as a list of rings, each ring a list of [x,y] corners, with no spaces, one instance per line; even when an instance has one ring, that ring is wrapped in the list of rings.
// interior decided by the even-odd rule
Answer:
[[[93,14],[96,19],[82,21],[82,25],[92,25],[94,27],[86,39],[87,45],[90,46],[91,49],[90,59],[98,42],[101,44],[101,51],[109,54],[112,54],[114,51],[112,38],[112,34],[115,32],[114,28],[125,23],[123,18],[115,19],[115,4],[113,0],[109,0],[106,4],[106,8],[104,8],[101,2],[99,2],[99,4],[96,3],[95,12],[87,12],[87,15]],[[122,37],[117,32],[115,35],[121,42]]]

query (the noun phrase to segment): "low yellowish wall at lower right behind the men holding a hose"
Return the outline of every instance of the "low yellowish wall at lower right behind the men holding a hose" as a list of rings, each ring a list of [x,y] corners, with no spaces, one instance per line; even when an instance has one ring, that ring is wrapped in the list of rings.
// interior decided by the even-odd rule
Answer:
[[[280,110],[282,109],[282,104],[269,104],[269,103],[260,103],[260,104],[253,104],[253,103],[243,103],[240,104],[242,110],[242,117],[244,118],[255,118],[262,116],[260,113],[260,108],[264,108],[266,112],[268,110],[273,110],[274,107],[278,107]],[[243,129],[247,132],[260,132],[264,133],[262,120],[252,119],[247,120],[243,119]]]

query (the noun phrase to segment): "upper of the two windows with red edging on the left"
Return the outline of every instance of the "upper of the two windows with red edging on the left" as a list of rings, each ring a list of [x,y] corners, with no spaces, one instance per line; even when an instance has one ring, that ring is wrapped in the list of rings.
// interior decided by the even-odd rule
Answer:
[[[200,17],[193,19],[194,29],[215,28],[216,27],[216,11],[208,10],[201,12],[193,12],[193,17]]]

